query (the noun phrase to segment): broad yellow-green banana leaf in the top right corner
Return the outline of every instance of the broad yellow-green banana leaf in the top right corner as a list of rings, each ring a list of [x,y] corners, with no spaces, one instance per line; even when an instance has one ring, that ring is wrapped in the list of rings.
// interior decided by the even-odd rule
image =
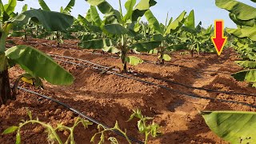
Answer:
[[[216,0],[215,4],[219,8],[230,11],[230,13],[236,15],[238,19],[250,20],[256,18],[256,9],[242,2],[234,0]]]

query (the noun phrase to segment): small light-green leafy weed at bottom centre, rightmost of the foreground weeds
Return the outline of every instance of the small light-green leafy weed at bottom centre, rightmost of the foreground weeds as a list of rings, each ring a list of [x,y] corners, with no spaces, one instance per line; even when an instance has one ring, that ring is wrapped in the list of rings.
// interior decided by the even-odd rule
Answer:
[[[142,115],[142,111],[141,110],[133,110],[134,114],[130,115],[130,118],[128,120],[128,122],[130,122],[132,119],[134,118],[138,118],[138,130],[141,134],[145,134],[145,144],[148,141],[148,138],[151,134],[152,137],[157,137],[158,134],[160,134],[159,132],[159,128],[160,126],[158,126],[158,124],[154,123],[154,122],[150,122],[150,124],[148,124],[149,120],[152,120],[153,118],[150,117],[146,117],[144,115]]]

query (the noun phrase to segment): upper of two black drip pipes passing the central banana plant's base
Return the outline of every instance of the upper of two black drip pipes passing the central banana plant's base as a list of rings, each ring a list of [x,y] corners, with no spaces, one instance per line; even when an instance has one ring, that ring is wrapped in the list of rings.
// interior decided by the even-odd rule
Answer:
[[[71,57],[66,57],[66,56],[62,56],[62,55],[55,55],[55,54],[49,54],[49,55],[50,56],[54,56],[54,57],[59,57],[59,58],[68,58],[68,59],[74,59],[74,60],[78,60],[78,61],[82,61],[82,62],[87,62],[87,63],[90,63],[91,65],[102,67],[102,68],[105,68],[105,69],[109,69],[110,68],[108,66],[101,66],[101,65],[98,65],[98,64],[96,64],[94,62],[89,62],[89,61],[86,61],[86,60],[83,60],[83,59],[80,59],[80,58],[71,58]],[[58,61],[66,62],[66,61],[64,61],[62,59],[58,59],[58,58],[54,58],[54,59],[56,59]],[[77,63],[70,62],[70,64],[76,65]],[[78,66],[86,66],[86,65],[79,64]],[[89,67],[89,66],[86,66],[86,67]],[[118,71],[117,69],[112,69],[112,70]],[[175,82],[175,81],[172,81],[172,80],[169,80],[169,79],[166,79],[166,78],[158,78],[158,77],[150,76],[150,75],[147,75],[147,74],[139,74],[139,73],[134,74],[133,72],[130,72],[130,74],[133,74],[133,75],[136,75],[136,76],[138,76],[138,75],[146,76],[146,77],[158,79],[158,80],[161,80],[161,81],[164,81],[164,82],[170,82],[170,83],[172,83],[174,85],[184,86],[184,87],[189,88],[189,89],[205,90],[205,91],[208,91],[208,92],[222,93],[222,94],[235,94],[235,95],[244,95],[244,96],[256,97],[256,94],[236,93],[236,92],[230,92],[230,91],[211,90],[211,89],[206,89],[206,88],[202,88],[202,87],[188,86],[188,85],[185,85],[185,84],[182,84],[182,83],[179,83],[179,82]]]

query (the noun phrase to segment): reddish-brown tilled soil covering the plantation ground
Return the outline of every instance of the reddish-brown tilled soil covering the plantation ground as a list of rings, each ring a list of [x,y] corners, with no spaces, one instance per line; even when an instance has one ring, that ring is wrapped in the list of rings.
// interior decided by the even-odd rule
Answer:
[[[55,45],[54,41],[30,39],[30,42],[22,42],[20,38],[12,38],[12,40],[18,44],[35,46],[48,54],[61,54],[90,60],[103,66],[121,67],[120,60],[110,58],[110,54],[97,55],[90,54],[88,50],[73,50],[78,49],[74,45],[74,41],[66,41],[73,45],[63,45],[61,48],[57,48],[53,46]],[[44,43],[47,45],[45,46]],[[150,61],[155,61],[157,58],[153,55],[138,55],[138,57]],[[217,54],[195,54],[194,58],[191,58],[190,54],[175,53],[172,54],[172,61],[166,62],[165,66],[143,63],[139,66],[130,66],[130,69],[189,86],[254,94],[256,92],[254,88],[248,86],[246,82],[237,82],[230,76],[230,73],[241,70],[234,64],[236,59],[236,54],[231,49],[224,50],[220,57]],[[149,86],[111,74],[99,74],[99,71],[91,68],[72,66],[64,62],[60,62],[60,64],[76,78],[73,85],[52,86],[45,82],[45,90],[36,90],[26,84],[22,84],[22,86],[65,102],[108,126],[114,126],[115,121],[118,121],[121,128],[126,129],[130,136],[143,140],[142,135],[138,134],[136,121],[126,122],[132,110],[138,108],[142,110],[142,114],[153,117],[154,122],[161,126],[162,135],[158,138],[150,138],[150,143],[226,143],[210,131],[198,112],[200,110],[255,111],[254,108],[234,103],[188,98],[157,86]],[[11,68],[11,81],[13,82],[14,78],[22,73],[23,71],[18,66]],[[189,90],[186,87],[154,78],[142,79],[168,86],[174,90],[211,98],[225,98],[250,104],[254,104],[256,100],[253,97],[241,95]],[[77,117],[63,106],[42,100],[34,94],[20,91],[17,100],[10,101],[0,108],[0,132],[9,126],[18,125],[22,119],[29,119],[26,107],[32,111],[34,118],[38,117],[42,122],[49,122],[53,126],[60,122],[72,126],[74,118]],[[78,144],[89,143],[92,135],[97,132],[96,127],[95,125],[90,126],[85,130],[79,126],[75,131],[75,141]],[[65,133],[60,134],[64,140]],[[46,138],[47,135],[43,133],[41,126],[29,125],[22,129],[22,143],[46,143]],[[122,143],[125,142],[123,138],[117,138]],[[15,134],[0,135],[0,143],[14,143],[14,141]]]

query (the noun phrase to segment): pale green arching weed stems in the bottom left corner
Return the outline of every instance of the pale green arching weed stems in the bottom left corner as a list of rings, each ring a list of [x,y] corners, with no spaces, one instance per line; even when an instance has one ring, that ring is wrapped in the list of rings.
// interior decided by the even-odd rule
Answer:
[[[23,126],[26,126],[27,124],[39,124],[42,125],[45,129],[46,129],[46,133],[48,134],[48,141],[49,142],[58,142],[59,144],[62,144],[62,140],[61,138],[59,138],[57,131],[64,131],[64,130],[68,130],[70,131],[70,135],[69,137],[66,139],[66,144],[70,143],[70,144],[74,144],[74,128],[76,126],[78,126],[78,124],[82,123],[82,125],[85,128],[88,128],[88,126],[92,125],[92,122],[89,122],[87,120],[84,120],[82,118],[77,118],[76,121],[74,122],[74,125],[71,127],[68,126],[63,126],[62,123],[58,124],[58,126],[56,128],[54,128],[53,126],[50,126],[50,124],[46,124],[44,122],[40,122],[38,120],[38,118],[36,118],[35,120],[32,118],[32,114],[30,110],[27,110],[27,114],[30,117],[29,121],[24,121],[22,120],[21,123],[19,123],[18,126],[10,126],[9,128],[7,128],[6,130],[4,130],[4,132],[2,134],[11,134],[14,133],[16,131],[16,144],[20,144],[21,141],[21,134],[20,131],[22,129]]]

